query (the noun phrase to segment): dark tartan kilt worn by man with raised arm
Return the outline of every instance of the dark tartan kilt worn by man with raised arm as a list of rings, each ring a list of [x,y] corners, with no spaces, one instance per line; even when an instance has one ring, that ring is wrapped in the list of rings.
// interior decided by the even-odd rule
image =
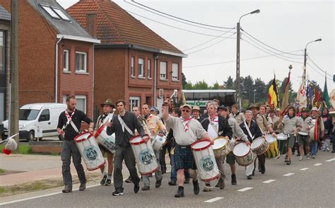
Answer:
[[[176,171],[189,168],[193,170],[196,169],[191,146],[180,146],[176,144],[173,158],[175,159]]]

